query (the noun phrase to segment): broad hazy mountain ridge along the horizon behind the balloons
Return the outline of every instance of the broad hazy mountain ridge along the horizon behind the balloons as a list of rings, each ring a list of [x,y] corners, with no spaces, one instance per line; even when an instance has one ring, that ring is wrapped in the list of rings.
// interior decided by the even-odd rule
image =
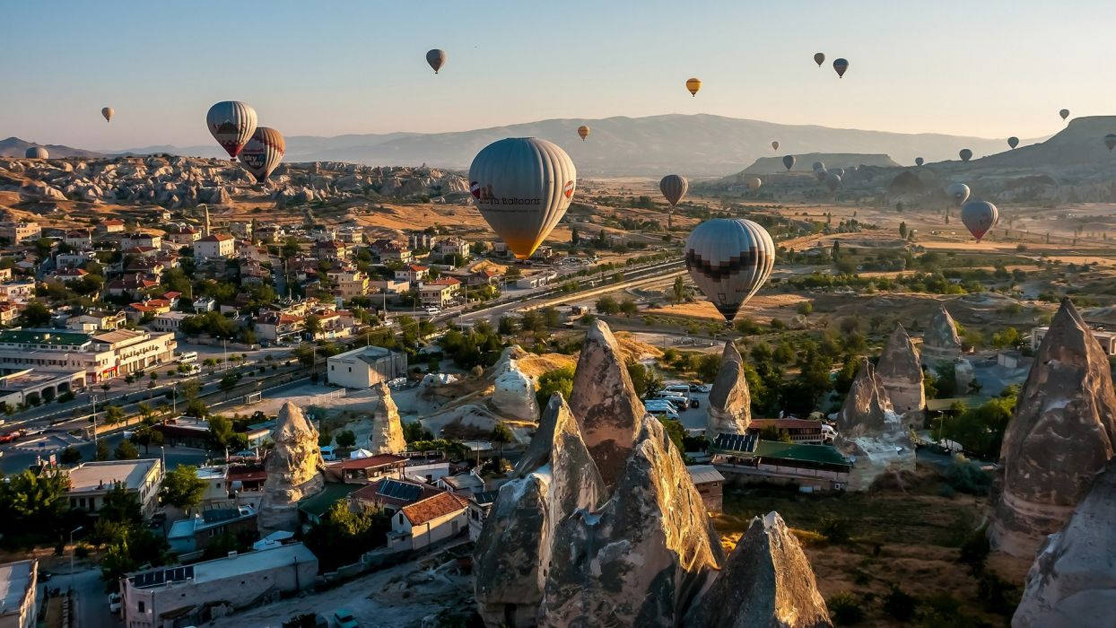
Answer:
[[[577,127],[593,129],[587,142]],[[891,155],[899,163],[915,156],[949,160],[968,147],[977,155],[999,151],[1003,139],[941,134],[903,134],[815,125],[785,125],[712,116],[668,114],[642,118],[547,119],[455,133],[388,133],[337,137],[287,138],[287,161],[343,161],[368,165],[429,164],[464,170],[488,144],[503,137],[541,137],[565,148],[583,175],[722,176],[740,172],[758,158],[786,154]],[[771,141],[781,144],[771,151]],[[148,146],[127,153],[221,156],[211,147]],[[804,161],[804,160],[799,160]],[[806,164],[809,167],[809,163]]]

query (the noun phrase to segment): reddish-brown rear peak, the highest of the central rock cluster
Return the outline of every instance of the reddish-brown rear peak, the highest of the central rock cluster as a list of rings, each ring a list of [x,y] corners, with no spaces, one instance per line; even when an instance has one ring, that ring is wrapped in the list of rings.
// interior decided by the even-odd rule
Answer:
[[[605,484],[616,483],[647,410],[632,386],[627,365],[608,326],[594,321],[577,359],[569,409]]]

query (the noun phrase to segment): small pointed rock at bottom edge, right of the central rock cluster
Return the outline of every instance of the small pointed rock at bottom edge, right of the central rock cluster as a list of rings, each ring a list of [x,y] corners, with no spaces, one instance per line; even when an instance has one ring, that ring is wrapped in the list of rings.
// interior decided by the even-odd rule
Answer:
[[[833,626],[802,547],[777,512],[752,518],[713,586],[683,624],[692,628]]]

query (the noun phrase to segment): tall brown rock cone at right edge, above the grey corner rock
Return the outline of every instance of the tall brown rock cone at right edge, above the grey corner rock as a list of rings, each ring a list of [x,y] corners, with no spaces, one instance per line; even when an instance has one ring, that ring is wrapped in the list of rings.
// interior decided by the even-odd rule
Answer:
[[[1108,356],[1069,299],[1050,322],[1000,448],[992,545],[1030,558],[1113,457]]]

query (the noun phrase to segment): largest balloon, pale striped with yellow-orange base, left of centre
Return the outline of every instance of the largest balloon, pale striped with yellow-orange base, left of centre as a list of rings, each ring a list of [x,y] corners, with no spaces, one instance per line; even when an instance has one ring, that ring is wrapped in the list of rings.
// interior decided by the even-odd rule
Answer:
[[[489,226],[517,258],[526,260],[569,209],[577,168],[556,144],[508,137],[473,157],[469,181]]]

